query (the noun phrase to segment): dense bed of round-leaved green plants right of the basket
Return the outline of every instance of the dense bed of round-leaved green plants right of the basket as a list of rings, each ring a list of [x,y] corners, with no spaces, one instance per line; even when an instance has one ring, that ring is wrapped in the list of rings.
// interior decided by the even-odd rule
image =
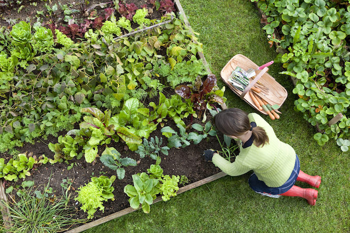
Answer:
[[[348,139],[350,99],[347,2],[258,1],[264,12],[263,29],[271,43],[285,50],[276,57],[283,64],[283,74],[296,78],[293,93],[295,110],[323,132],[314,139],[324,145],[329,138]],[[332,125],[337,114],[342,118]],[[344,149],[344,148],[342,148]]]

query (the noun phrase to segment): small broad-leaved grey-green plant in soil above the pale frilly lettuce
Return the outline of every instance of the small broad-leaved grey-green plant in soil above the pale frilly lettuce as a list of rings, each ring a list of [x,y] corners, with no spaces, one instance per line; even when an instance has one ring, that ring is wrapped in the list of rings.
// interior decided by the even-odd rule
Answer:
[[[121,158],[120,153],[113,147],[106,147],[99,160],[111,170],[116,171],[119,180],[122,180],[125,177],[125,170],[122,166],[127,167],[137,165],[134,159],[128,157]]]

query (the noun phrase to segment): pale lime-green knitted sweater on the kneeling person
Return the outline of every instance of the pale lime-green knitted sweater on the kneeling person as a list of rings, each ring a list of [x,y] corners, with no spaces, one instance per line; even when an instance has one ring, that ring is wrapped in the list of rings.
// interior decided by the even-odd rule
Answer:
[[[254,144],[247,148],[239,147],[239,155],[233,163],[228,162],[218,154],[214,154],[212,162],[224,173],[239,176],[253,170],[260,181],[268,187],[280,187],[289,178],[295,165],[294,149],[276,137],[272,127],[258,114],[248,114],[249,121],[262,127],[268,136],[268,144],[256,147]]]

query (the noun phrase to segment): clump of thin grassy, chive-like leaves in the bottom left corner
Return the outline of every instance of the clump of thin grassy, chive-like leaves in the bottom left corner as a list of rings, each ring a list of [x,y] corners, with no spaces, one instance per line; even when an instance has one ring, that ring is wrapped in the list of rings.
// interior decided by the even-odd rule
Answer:
[[[44,192],[33,191],[33,182],[22,182],[22,190],[17,191],[18,200],[4,202],[1,205],[9,210],[11,220],[5,220],[6,224],[0,225],[0,232],[36,232],[57,233],[74,224],[85,223],[86,220],[76,218],[74,208],[67,206],[69,197],[47,198],[48,192],[52,190],[49,183],[44,187]],[[34,194],[39,194],[37,198]],[[53,221],[54,220],[54,221]]]

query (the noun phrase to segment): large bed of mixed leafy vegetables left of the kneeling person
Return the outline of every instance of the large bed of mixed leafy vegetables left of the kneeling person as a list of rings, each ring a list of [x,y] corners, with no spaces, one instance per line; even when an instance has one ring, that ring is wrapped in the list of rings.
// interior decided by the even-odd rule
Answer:
[[[175,12],[145,17],[154,7],[172,9],[170,1],[150,1],[149,8],[126,15],[129,19],[123,4],[133,7],[124,1],[98,4],[108,7],[97,11],[104,15],[100,27],[86,26],[84,33],[73,25],[74,14],[69,16],[79,13],[72,5],[61,6],[67,25],[58,26],[57,6],[46,4],[49,17],[57,19],[54,25],[38,18],[1,27],[0,178],[13,200],[20,199],[22,180],[38,186],[49,181],[53,195],[74,197],[65,205],[75,208],[77,219],[96,219],[136,207],[137,201],[149,213],[156,194],[168,201],[178,184],[218,172],[198,153],[203,145],[219,145],[209,121],[225,101],[224,88],[198,58],[201,43]],[[156,23],[162,25],[117,38]],[[176,94],[177,85],[197,91],[194,101]],[[169,140],[177,132],[186,135],[188,151],[180,152]],[[164,175],[154,174],[154,163]],[[147,173],[155,178],[146,179]],[[156,180],[158,192],[142,196],[147,188],[127,186],[139,183],[136,174],[145,184]],[[69,190],[61,193],[63,180]],[[129,187],[125,193],[124,187]]]

